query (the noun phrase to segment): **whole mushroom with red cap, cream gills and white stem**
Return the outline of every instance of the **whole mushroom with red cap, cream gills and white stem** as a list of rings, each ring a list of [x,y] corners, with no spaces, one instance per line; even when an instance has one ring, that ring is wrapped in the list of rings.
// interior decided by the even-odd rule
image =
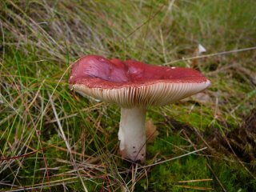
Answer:
[[[210,81],[198,70],[87,55],[74,63],[71,89],[121,106],[118,139],[122,158],[144,162],[147,106],[165,106],[205,90]]]

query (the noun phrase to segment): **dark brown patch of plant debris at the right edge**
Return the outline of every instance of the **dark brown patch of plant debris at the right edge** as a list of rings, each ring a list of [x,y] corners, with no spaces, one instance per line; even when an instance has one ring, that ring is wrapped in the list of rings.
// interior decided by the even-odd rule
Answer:
[[[193,126],[173,118],[166,117],[166,123],[174,128],[174,132],[182,130],[182,134],[196,135],[195,140],[190,142],[197,146],[207,146],[206,153],[239,158],[239,161],[250,164],[250,169],[256,170],[256,108],[244,119],[241,126],[224,135],[218,129],[196,131]]]

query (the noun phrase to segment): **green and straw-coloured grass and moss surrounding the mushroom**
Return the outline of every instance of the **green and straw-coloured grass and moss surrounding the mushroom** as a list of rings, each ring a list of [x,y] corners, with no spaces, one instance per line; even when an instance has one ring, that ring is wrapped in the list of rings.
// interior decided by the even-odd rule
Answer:
[[[238,52],[255,46],[255,6],[254,0],[0,2],[0,190],[255,190],[255,159],[216,149],[178,158],[207,146],[216,131],[238,129],[256,107],[256,52]],[[119,107],[70,91],[71,64],[100,54],[191,66],[182,58],[194,57],[198,43],[215,54],[197,60],[212,82],[208,99],[150,107],[147,119],[159,135],[148,144],[145,165],[122,160]]]

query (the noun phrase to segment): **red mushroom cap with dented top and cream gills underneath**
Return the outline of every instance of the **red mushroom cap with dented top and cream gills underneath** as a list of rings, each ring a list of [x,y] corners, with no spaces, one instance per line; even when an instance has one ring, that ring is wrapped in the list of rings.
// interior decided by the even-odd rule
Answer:
[[[206,89],[210,81],[190,68],[88,55],[74,63],[70,85],[80,94],[133,107],[166,105]]]

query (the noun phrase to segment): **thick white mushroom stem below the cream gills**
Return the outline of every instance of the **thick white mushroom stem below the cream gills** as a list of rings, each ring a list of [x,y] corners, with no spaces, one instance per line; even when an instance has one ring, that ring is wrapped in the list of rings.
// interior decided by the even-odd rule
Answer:
[[[121,108],[118,132],[122,158],[144,162],[146,156],[145,108]]]

